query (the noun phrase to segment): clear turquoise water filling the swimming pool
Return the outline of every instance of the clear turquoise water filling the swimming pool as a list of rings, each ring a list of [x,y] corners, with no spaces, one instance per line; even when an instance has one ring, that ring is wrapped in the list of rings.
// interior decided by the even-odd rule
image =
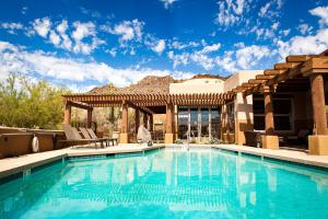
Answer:
[[[67,160],[1,185],[0,218],[328,218],[328,172],[213,149]]]

